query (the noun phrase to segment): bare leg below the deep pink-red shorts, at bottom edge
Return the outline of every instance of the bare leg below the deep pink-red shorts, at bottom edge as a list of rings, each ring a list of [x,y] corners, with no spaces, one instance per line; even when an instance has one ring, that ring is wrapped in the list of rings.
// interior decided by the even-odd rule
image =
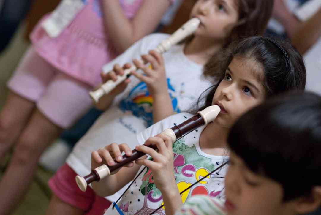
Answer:
[[[84,214],[84,211],[63,202],[56,195],[53,195],[46,214],[47,215],[57,215],[57,214],[82,215]]]

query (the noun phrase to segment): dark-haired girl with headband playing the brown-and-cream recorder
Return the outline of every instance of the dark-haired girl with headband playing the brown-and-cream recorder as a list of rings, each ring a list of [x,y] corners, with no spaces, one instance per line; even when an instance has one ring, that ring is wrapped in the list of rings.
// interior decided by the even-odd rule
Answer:
[[[92,183],[97,194],[105,196],[117,192],[133,180],[140,172],[141,165],[144,165],[147,169],[137,176],[118,204],[124,214],[152,213],[162,203],[165,204],[166,214],[173,214],[187,198],[200,193],[224,198],[226,166],[182,195],[180,192],[218,168],[224,162],[224,157],[228,158],[226,137],[239,116],[267,97],[287,90],[304,90],[306,77],[302,57],[288,43],[250,37],[233,43],[226,53],[227,58],[221,61],[218,73],[209,73],[219,81],[205,97],[204,108],[211,105],[221,108],[216,119],[173,146],[169,136],[159,133],[192,115],[180,113],[152,125],[136,137],[139,144],[156,144],[159,152],[144,145],[136,146],[136,150],[150,155],[153,160],[136,160],[135,164],[129,165],[132,168],[121,168],[114,175]],[[210,65],[211,61],[205,66],[205,71],[211,69]],[[97,168],[102,162],[112,166],[113,159],[118,160],[121,152],[131,155],[126,143],[112,143],[94,151],[91,167]],[[157,212],[164,214],[164,209]]]

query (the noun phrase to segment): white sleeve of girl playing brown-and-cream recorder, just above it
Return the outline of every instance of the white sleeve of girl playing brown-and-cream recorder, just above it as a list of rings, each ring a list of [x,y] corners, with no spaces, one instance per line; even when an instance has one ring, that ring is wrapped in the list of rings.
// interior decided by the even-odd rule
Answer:
[[[174,127],[176,124],[179,125],[182,122],[186,121],[193,115],[189,113],[179,113],[172,116],[169,116],[150,127],[146,128],[141,133],[137,134],[137,141],[139,144],[144,144],[144,142],[150,138],[153,137],[159,133],[162,133],[165,129]]]

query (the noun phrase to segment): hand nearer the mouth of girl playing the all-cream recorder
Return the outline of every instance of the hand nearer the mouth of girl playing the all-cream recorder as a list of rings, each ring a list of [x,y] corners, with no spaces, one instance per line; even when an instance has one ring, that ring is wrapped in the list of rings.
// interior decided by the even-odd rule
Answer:
[[[148,55],[142,55],[141,57],[145,64],[150,63],[151,66],[144,65],[142,62],[134,59],[133,62],[136,67],[143,70],[145,75],[137,72],[132,72],[132,74],[146,83],[148,91],[152,96],[167,95],[167,79],[163,57],[154,50],[149,51]]]

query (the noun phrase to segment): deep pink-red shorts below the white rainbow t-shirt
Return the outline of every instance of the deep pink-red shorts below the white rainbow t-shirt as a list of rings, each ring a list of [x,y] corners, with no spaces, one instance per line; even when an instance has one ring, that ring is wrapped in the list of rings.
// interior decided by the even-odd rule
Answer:
[[[104,214],[111,202],[96,195],[90,187],[86,192],[82,192],[76,184],[76,175],[74,170],[65,164],[50,178],[48,185],[63,202],[85,211],[86,215]]]

